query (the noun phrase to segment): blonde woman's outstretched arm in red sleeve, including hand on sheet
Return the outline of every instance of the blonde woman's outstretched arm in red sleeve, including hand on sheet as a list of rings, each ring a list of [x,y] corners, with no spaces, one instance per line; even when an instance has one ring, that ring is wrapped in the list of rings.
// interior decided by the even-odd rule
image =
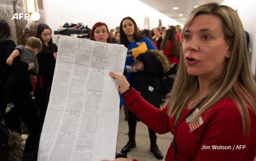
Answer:
[[[109,75],[117,80],[119,85],[118,92],[122,94],[127,108],[137,115],[142,123],[159,134],[170,132],[167,107],[160,110],[145,101],[139,92],[135,91],[134,88],[130,88],[125,76],[119,76],[112,72]]]

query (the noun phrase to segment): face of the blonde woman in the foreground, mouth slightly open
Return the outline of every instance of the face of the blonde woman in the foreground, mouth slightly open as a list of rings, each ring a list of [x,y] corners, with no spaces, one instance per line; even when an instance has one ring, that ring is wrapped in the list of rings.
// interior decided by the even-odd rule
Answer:
[[[191,21],[182,50],[189,75],[214,79],[225,69],[230,47],[224,39],[221,18],[202,14]]]

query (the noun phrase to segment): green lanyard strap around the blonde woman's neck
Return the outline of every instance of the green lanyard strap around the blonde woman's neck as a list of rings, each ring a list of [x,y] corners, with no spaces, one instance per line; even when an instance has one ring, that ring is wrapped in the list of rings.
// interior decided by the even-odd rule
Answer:
[[[191,114],[196,110],[196,108],[197,108],[198,106],[200,106],[200,105],[204,102],[204,100],[206,100],[207,98],[208,98],[208,96],[205,96],[205,98],[203,98],[199,103],[197,103],[196,106],[195,106],[183,119],[185,119],[185,118],[187,118],[189,115],[191,115]],[[178,127],[179,127],[180,123],[183,121],[183,119],[182,119],[181,122],[178,124],[177,128],[175,128],[175,127],[176,127],[176,123],[177,123],[177,121],[178,121],[178,119],[179,119],[179,117],[180,117],[180,114],[181,114],[181,111],[182,111],[182,109],[183,109],[184,104],[185,104],[185,103],[183,103],[182,106],[180,107],[180,109],[179,109],[179,111],[178,111],[178,114],[177,114],[177,116],[176,116],[176,118],[175,118],[175,123],[174,123],[174,135],[173,135],[174,161],[177,161],[177,151],[178,151],[178,149],[177,149],[177,143],[176,143],[176,133],[177,133]],[[176,129],[176,130],[175,130],[175,129]]]

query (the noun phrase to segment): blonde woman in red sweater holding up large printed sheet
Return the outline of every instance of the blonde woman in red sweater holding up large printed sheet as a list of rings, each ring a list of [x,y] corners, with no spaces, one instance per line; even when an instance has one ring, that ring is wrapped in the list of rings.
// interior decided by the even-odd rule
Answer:
[[[179,70],[162,110],[110,73],[127,108],[157,133],[173,134],[165,160],[253,160],[256,83],[238,14],[217,3],[199,6],[182,38]]]

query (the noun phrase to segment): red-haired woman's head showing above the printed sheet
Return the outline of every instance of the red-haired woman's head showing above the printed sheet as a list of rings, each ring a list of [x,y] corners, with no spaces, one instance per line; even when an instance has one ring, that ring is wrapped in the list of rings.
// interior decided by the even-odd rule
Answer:
[[[91,30],[90,39],[102,43],[112,43],[106,23],[95,23]]]

